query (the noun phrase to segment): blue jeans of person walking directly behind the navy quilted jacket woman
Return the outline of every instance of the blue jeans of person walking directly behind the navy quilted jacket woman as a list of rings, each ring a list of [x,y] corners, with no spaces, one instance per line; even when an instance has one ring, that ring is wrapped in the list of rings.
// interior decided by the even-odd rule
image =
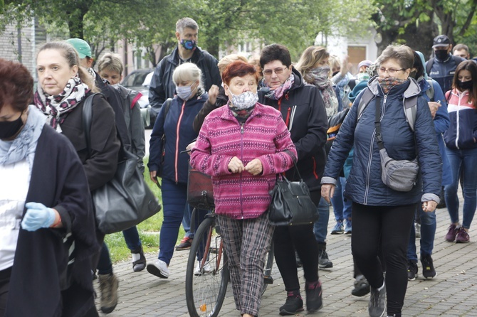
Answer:
[[[436,235],[436,212],[426,213],[421,204],[416,206],[417,217],[421,217],[421,257],[431,255],[434,249]],[[407,244],[407,260],[417,262],[416,254],[416,227],[412,225],[409,243]]]

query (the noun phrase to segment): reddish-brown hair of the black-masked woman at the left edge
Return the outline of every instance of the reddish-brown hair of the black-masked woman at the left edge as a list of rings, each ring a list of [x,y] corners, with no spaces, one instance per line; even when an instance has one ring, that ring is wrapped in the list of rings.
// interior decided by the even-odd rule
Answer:
[[[25,66],[0,58],[0,109],[5,104],[23,112],[33,97],[33,78]]]

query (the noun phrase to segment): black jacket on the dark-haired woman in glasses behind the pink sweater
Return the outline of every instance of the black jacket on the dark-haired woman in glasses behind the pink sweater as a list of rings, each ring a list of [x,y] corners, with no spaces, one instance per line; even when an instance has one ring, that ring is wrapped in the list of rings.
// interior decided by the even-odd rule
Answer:
[[[328,123],[320,90],[303,82],[300,72],[293,68],[295,82],[280,100],[271,100],[258,92],[258,102],[281,112],[298,153],[298,171],[310,190],[318,190],[326,163],[326,131]],[[287,177],[298,179],[294,168]]]

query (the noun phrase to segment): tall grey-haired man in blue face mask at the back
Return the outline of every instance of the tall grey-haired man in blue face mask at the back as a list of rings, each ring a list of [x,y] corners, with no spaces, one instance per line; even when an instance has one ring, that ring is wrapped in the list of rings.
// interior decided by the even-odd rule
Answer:
[[[159,109],[167,98],[174,97],[176,87],[172,82],[172,73],[182,63],[194,63],[201,69],[205,91],[209,91],[212,85],[221,86],[222,80],[217,60],[205,50],[197,47],[198,33],[199,26],[192,18],[181,18],[177,21],[177,48],[157,64],[151,79],[149,102],[152,108],[152,117],[157,117]]]

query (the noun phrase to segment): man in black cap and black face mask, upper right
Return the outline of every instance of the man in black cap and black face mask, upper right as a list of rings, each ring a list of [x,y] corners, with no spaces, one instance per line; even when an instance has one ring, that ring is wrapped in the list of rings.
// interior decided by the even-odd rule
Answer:
[[[427,75],[439,82],[442,91],[445,93],[452,89],[452,79],[456,72],[457,65],[464,61],[463,58],[452,55],[451,40],[445,35],[434,38],[434,58],[426,62]]]

